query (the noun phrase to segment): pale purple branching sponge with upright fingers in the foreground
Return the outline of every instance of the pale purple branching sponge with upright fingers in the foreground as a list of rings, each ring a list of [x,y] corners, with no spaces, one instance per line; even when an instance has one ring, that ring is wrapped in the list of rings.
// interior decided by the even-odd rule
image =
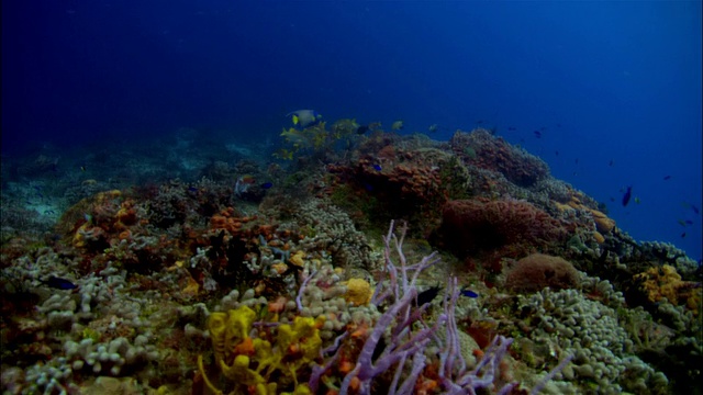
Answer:
[[[478,365],[468,370],[461,356],[454,317],[454,306],[460,293],[456,279],[447,286],[443,313],[432,326],[426,325],[422,317],[429,304],[415,306],[413,303],[417,297],[417,278],[439,259],[432,253],[415,264],[408,264],[402,251],[405,229],[402,229],[400,237],[395,236],[393,230],[391,223],[391,228],[383,238],[388,280],[379,281],[371,300],[371,304],[376,306],[388,307],[372,327],[368,328],[366,335],[352,334],[350,341],[359,336],[365,338],[356,361],[349,369],[344,368],[348,364],[344,357],[348,350],[344,345],[337,348],[330,360],[342,360],[338,371],[345,373],[345,376],[339,385],[339,393],[347,394],[353,391],[370,394],[376,381],[381,381],[381,376],[384,376],[388,393],[411,394],[417,388],[421,374],[431,371],[436,372],[429,375],[436,376],[437,380],[422,380],[420,387],[442,390],[449,394],[476,394],[478,388],[492,387],[500,362],[512,340],[496,337]],[[398,255],[398,264],[391,258],[392,251]],[[445,340],[437,336],[442,327],[446,330]],[[346,335],[343,335],[337,342],[345,337]],[[439,348],[438,358],[425,354],[427,346],[433,341]],[[323,372],[331,369],[333,362],[330,361],[314,369],[310,380],[310,388],[313,392],[317,391]],[[513,386],[514,384],[505,385],[501,393],[507,393]]]

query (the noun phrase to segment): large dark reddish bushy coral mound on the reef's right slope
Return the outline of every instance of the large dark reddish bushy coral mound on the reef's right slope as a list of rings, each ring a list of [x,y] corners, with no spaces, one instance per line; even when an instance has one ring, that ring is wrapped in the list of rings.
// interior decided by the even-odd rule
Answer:
[[[567,236],[563,226],[531,203],[458,200],[444,206],[442,240],[461,256],[503,250],[512,256]]]

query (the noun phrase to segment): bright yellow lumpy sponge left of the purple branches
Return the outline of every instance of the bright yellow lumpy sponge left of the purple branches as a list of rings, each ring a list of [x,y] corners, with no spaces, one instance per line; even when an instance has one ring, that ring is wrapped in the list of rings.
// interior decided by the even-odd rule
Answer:
[[[295,317],[292,325],[278,326],[274,343],[248,336],[255,319],[256,313],[247,306],[210,316],[208,328],[215,365],[235,386],[254,388],[257,394],[276,394],[278,384],[274,381],[292,386],[294,394],[310,393],[306,384],[298,383],[298,376],[320,356],[322,338],[317,328],[324,318]],[[208,387],[222,394],[208,379],[202,356],[198,365]]]

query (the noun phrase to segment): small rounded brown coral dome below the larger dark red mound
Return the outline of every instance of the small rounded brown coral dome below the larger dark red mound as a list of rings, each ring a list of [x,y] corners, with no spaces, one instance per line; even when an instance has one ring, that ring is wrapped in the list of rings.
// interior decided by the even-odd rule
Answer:
[[[517,292],[537,292],[547,286],[556,290],[576,287],[579,272],[559,257],[533,253],[517,261],[507,272],[505,286]]]

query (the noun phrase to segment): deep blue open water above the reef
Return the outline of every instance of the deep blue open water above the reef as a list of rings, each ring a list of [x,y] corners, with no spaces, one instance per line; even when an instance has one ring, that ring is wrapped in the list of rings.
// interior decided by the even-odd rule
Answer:
[[[4,155],[183,126],[277,138],[308,108],[436,139],[482,122],[635,238],[701,257],[700,1],[125,3],[2,2]]]

